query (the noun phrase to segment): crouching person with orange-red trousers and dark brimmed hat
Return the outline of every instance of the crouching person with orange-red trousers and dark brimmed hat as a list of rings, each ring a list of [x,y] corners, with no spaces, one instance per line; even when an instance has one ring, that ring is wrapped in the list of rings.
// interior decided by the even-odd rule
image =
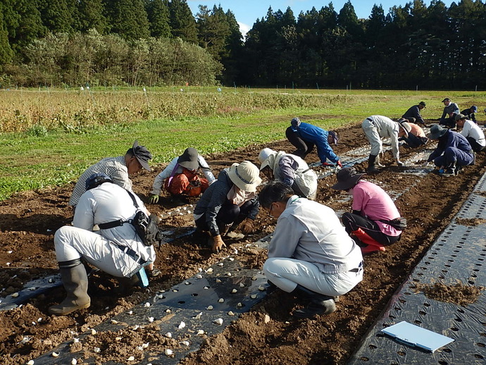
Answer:
[[[204,174],[204,178],[199,177],[199,170]],[[150,202],[158,203],[162,185],[171,195],[185,194],[188,197],[198,197],[215,181],[204,157],[197,149],[189,147],[157,175],[152,186]]]

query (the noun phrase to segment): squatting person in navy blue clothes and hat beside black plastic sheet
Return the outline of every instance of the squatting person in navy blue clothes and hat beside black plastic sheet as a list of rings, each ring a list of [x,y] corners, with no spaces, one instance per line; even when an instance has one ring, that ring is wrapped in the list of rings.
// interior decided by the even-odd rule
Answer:
[[[440,175],[457,175],[462,166],[474,163],[471,144],[461,133],[443,128],[441,125],[432,125],[429,139],[437,140],[438,143],[424,165],[434,161],[435,166],[440,168]]]

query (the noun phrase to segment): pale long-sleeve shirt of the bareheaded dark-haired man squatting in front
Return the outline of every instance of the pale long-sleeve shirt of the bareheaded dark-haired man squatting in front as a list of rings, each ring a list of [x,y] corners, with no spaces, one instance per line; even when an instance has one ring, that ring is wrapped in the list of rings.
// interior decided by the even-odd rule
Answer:
[[[292,196],[278,217],[268,258],[286,257],[316,265],[322,273],[357,268],[363,256],[335,211],[306,198]]]

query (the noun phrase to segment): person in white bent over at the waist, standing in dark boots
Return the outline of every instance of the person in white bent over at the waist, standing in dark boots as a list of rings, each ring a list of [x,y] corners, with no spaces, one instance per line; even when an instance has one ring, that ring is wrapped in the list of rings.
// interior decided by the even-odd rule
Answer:
[[[400,152],[398,149],[398,133],[404,130],[405,137],[409,136],[411,126],[409,123],[397,123],[386,116],[368,116],[361,128],[371,144],[370,157],[368,159],[368,173],[378,172],[378,167],[385,167],[380,164],[380,153],[383,151],[382,137],[390,137],[393,151],[393,158],[397,161],[398,166],[404,166],[404,163],[400,161]]]

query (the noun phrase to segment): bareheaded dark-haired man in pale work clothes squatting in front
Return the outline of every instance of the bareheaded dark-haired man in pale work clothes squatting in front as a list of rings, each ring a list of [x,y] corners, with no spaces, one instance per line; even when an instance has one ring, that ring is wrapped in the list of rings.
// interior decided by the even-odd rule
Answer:
[[[271,283],[308,303],[292,315],[310,318],[335,311],[333,297],[363,280],[361,249],[335,211],[298,197],[279,181],[263,187],[258,200],[277,218],[263,271]]]

